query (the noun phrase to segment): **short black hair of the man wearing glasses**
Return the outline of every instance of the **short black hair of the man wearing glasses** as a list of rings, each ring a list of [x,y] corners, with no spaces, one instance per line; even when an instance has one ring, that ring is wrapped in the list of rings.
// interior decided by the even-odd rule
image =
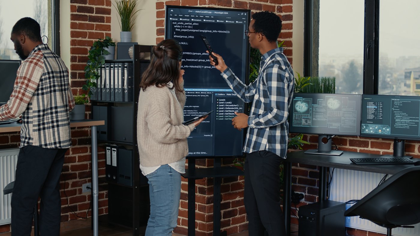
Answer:
[[[275,13],[260,11],[252,15],[255,32],[264,34],[269,42],[277,41],[281,31],[281,19]]]

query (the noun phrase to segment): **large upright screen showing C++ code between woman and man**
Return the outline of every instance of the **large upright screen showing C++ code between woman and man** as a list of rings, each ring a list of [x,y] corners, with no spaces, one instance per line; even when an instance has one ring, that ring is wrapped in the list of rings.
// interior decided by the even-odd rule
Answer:
[[[176,39],[183,49],[186,104],[184,120],[213,111],[187,138],[188,157],[243,156],[244,132],[232,126],[234,112],[246,106],[210,65],[205,36],[241,82],[249,78],[248,29],[250,10],[170,6],[165,9],[165,39]]]

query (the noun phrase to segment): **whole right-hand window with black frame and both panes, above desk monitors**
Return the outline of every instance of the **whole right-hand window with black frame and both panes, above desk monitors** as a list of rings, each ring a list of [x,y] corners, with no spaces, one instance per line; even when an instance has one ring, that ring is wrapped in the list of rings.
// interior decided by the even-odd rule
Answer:
[[[305,0],[304,75],[336,93],[420,95],[420,1]]]

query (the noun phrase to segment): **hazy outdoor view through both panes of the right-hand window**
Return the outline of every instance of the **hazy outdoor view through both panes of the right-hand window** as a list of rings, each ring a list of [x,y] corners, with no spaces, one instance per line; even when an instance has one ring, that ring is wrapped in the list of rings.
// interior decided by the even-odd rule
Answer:
[[[361,94],[365,1],[319,4],[318,76],[335,77],[336,93]],[[418,9],[418,0],[380,1],[379,94],[420,95]]]

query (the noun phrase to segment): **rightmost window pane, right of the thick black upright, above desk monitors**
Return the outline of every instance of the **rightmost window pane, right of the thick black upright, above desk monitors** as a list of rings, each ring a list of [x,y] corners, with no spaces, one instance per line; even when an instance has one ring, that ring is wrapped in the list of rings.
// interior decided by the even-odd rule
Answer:
[[[379,94],[420,95],[419,9],[419,0],[379,3]]]

